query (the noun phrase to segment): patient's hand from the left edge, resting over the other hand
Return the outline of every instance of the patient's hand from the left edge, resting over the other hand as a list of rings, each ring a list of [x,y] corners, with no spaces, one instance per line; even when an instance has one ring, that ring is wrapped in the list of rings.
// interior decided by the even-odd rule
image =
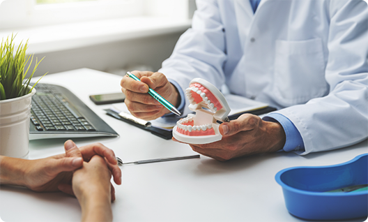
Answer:
[[[15,179],[18,181],[17,184],[37,192],[63,191],[75,195],[73,192],[74,184],[72,187],[73,172],[82,168],[82,166],[84,167],[86,162],[93,159],[93,156],[101,156],[102,158],[99,161],[94,161],[93,164],[99,168],[108,169],[108,173],[105,172],[105,175],[107,174],[109,178],[113,175],[114,182],[121,184],[121,170],[118,168],[114,151],[111,149],[100,143],[86,145],[78,149],[72,140],[68,140],[64,144],[64,148],[65,154],[31,161],[21,160],[22,170],[20,172],[22,174],[20,174],[20,178]],[[97,169],[95,168],[95,170]],[[99,177],[99,175],[101,174],[96,174],[95,177]],[[93,183],[90,184],[93,186]],[[114,200],[114,187],[112,185],[111,193],[111,198]]]

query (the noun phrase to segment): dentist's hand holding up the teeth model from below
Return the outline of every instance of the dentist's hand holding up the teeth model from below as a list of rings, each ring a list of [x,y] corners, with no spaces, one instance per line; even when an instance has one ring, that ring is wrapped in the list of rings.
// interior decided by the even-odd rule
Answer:
[[[275,152],[284,147],[286,136],[279,123],[263,121],[253,114],[220,125],[222,140],[204,145],[190,145],[194,151],[218,161]],[[173,138],[174,141],[178,141]]]

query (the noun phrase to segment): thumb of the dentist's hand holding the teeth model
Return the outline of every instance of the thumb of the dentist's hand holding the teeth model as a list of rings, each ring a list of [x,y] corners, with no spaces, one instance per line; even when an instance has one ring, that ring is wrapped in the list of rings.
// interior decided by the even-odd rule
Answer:
[[[254,114],[242,114],[238,119],[224,122],[220,125],[220,133],[222,135],[234,135],[240,131],[252,131],[259,125],[261,118]]]

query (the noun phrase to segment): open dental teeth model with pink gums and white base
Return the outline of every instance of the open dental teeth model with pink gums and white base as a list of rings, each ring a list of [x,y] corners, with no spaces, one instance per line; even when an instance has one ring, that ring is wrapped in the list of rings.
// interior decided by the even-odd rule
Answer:
[[[219,121],[229,121],[227,117],[230,108],[226,99],[213,84],[201,78],[190,82],[185,90],[189,99],[190,110],[195,114],[188,114],[174,126],[173,136],[176,140],[190,144],[206,144],[222,139],[219,131]]]

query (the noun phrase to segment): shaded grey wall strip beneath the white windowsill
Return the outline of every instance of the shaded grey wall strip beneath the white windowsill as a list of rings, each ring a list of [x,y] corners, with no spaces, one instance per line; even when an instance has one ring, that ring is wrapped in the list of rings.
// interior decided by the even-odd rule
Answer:
[[[39,76],[47,72],[59,73],[77,68],[93,68],[109,72],[135,65],[151,66],[154,71],[157,71],[162,61],[170,56],[180,35],[181,32],[178,32],[35,54],[38,59],[45,57],[35,75]]]

